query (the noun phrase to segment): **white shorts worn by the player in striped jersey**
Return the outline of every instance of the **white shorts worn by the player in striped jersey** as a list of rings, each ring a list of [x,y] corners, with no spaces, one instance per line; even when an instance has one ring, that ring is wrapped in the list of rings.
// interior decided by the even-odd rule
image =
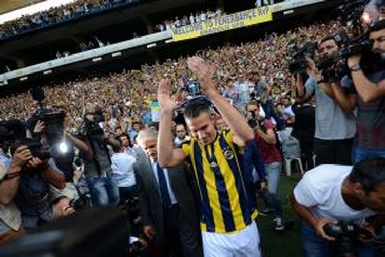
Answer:
[[[202,231],[205,257],[261,257],[257,224],[253,221],[243,230],[232,233]]]

